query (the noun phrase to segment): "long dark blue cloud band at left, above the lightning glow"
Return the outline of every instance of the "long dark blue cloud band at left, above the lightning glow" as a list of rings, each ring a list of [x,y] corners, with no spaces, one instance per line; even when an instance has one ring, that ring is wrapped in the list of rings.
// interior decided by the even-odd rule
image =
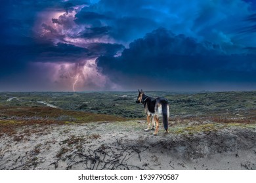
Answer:
[[[25,39],[24,39],[25,40]],[[64,62],[80,61],[89,58],[88,50],[74,45],[49,42],[36,43],[31,38],[25,40],[26,45],[0,46],[1,67],[0,78],[11,75],[24,75],[33,62]]]

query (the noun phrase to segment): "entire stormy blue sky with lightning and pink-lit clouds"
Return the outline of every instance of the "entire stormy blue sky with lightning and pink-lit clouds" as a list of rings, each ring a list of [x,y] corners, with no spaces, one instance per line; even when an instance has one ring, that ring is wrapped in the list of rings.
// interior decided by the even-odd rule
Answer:
[[[256,90],[249,0],[1,2],[0,91]]]

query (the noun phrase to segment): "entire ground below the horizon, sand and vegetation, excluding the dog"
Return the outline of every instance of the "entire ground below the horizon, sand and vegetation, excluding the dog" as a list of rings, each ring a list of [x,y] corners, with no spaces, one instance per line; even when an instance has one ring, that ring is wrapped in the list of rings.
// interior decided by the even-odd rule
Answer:
[[[137,95],[0,93],[0,169],[256,169],[256,92],[146,92],[170,105],[156,137]]]

